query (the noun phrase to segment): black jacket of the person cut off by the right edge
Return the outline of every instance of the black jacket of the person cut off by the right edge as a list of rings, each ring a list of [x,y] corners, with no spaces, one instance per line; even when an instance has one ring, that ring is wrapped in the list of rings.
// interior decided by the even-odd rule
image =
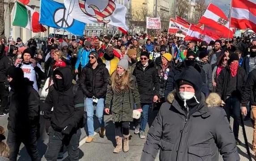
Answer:
[[[256,69],[248,74],[241,98],[242,107],[245,107],[249,101],[251,105],[256,106]]]

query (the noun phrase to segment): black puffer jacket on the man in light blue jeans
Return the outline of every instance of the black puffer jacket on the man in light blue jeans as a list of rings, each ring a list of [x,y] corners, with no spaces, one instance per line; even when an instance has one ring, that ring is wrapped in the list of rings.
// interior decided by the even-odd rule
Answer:
[[[107,93],[107,84],[109,73],[106,65],[101,59],[98,59],[98,66],[92,68],[90,62],[83,68],[79,84],[88,98],[93,96],[97,99],[105,98]]]

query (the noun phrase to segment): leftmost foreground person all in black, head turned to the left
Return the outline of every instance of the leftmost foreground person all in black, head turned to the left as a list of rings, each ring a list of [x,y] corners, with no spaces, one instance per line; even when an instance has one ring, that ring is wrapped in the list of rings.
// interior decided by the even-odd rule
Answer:
[[[9,118],[7,144],[10,161],[16,161],[20,145],[23,143],[32,161],[41,161],[36,146],[39,126],[40,96],[33,88],[33,82],[24,78],[21,68],[11,67],[8,72],[11,87],[9,93]]]

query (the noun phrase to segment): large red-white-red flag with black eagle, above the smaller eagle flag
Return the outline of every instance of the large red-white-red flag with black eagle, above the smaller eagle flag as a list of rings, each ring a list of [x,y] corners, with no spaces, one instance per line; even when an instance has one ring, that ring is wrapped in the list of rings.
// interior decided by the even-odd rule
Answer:
[[[210,26],[212,29],[221,31],[223,33],[223,37],[233,37],[233,29],[230,29],[229,21],[225,13],[211,3],[199,22]]]

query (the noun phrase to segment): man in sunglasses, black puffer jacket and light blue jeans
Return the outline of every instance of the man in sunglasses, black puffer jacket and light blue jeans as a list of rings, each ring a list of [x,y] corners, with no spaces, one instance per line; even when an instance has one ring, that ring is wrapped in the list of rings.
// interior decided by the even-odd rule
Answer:
[[[109,73],[106,65],[99,58],[96,51],[89,54],[89,62],[83,68],[80,77],[80,86],[86,97],[85,108],[87,112],[87,127],[89,136],[86,142],[93,141],[94,136],[94,105],[96,105],[96,116],[100,124],[99,135],[105,135],[105,124],[103,119],[104,99],[107,93]]]

